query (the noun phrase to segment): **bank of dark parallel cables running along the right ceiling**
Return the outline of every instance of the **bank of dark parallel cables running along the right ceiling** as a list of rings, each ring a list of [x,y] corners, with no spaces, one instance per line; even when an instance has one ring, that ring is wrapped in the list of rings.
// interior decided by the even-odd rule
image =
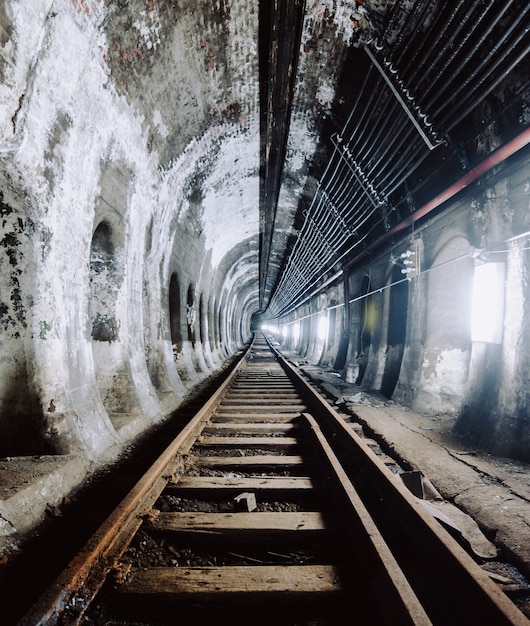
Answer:
[[[386,223],[392,194],[528,55],[529,15],[520,0],[416,0],[409,12],[394,4],[386,29],[365,44],[372,62],[331,136],[329,161],[270,301],[272,316]]]

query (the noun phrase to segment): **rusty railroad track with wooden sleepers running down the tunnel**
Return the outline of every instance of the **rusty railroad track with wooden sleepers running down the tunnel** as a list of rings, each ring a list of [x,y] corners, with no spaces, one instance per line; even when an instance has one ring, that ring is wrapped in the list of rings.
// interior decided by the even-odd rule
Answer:
[[[37,624],[528,625],[259,333]]]

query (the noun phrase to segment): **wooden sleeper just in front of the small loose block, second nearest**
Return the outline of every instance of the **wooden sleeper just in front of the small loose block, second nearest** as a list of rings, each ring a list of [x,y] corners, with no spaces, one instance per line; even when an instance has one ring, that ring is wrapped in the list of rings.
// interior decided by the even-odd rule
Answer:
[[[324,520],[319,512],[237,512],[202,513],[175,512],[158,513],[149,521],[149,528],[160,532],[206,533],[208,535],[252,535],[271,537],[276,534],[300,531],[322,532]]]

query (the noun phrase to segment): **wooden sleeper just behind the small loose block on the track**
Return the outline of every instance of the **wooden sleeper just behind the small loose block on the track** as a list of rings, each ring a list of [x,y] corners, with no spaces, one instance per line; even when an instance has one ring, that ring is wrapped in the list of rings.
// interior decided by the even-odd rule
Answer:
[[[236,478],[224,476],[182,476],[171,487],[171,490],[226,490],[230,492],[242,491],[310,491],[318,488],[310,478],[297,476],[296,478]]]

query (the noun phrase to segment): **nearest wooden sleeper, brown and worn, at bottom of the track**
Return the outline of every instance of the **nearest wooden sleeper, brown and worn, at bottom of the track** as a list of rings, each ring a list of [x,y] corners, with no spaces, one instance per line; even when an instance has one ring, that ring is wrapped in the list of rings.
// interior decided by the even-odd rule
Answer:
[[[133,568],[117,591],[178,601],[260,599],[342,591],[338,571],[331,565],[149,567]],[[250,622],[252,620],[250,619]]]

